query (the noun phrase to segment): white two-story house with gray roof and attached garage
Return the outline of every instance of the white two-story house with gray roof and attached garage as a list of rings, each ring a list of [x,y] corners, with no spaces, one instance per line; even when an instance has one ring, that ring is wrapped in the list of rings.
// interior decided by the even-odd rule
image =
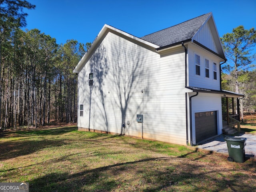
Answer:
[[[212,13],[138,38],[104,25],[74,72],[78,130],[182,145],[222,133],[226,62]]]

